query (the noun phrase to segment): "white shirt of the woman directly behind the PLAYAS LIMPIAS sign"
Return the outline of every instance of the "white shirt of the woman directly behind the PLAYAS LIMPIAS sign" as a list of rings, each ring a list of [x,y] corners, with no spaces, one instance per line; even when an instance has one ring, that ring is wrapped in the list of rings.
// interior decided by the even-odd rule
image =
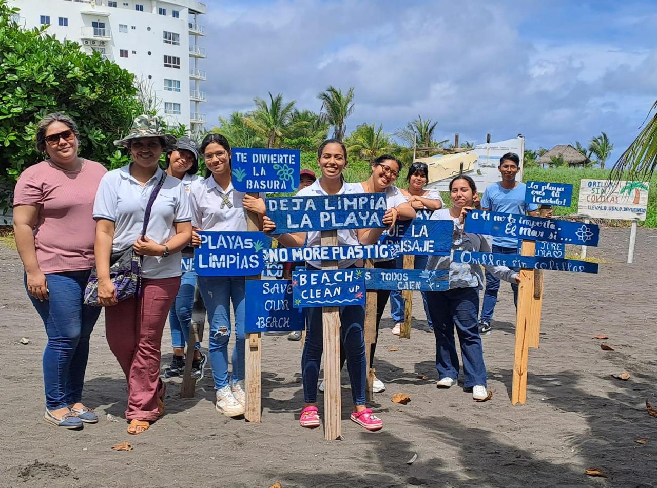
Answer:
[[[212,175],[194,183],[189,199],[192,225],[202,231],[246,232],[246,209],[242,205],[245,194],[233,189],[233,183],[224,191]],[[264,193],[259,196],[265,198]]]

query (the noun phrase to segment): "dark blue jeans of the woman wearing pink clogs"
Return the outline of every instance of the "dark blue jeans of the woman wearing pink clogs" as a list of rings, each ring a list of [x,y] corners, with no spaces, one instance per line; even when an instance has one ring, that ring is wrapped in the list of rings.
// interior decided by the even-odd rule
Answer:
[[[319,378],[319,365],[324,351],[322,309],[307,309],[306,317],[308,330],[304,352],[301,355],[304,401],[306,403],[317,403],[317,379]],[[364,323],[365,307],[363,305],[340,307],[340,350],[344,349],[347,357],[347,370],[351,382],[353,405],[365,405]]]

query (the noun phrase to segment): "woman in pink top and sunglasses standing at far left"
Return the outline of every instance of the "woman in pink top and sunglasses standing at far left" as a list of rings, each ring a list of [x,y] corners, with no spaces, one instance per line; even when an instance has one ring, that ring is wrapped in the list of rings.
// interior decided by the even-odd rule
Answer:
[[[25,287],[48,335],[43,419],[68,429],[98,422],[82,403],[82,386],[89,336],[101,308],[82,302],[94,263],[93,201],[107,172],[78,156],[78,138],[71,118],[45,116],[37,123],[36,145],[48,159],[23,171],[14,190],[14,234]]]

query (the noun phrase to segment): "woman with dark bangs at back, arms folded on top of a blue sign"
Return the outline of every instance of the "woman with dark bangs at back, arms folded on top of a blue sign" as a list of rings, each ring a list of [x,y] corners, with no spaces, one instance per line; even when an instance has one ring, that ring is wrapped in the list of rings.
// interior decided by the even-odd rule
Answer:
[[[415,210],[415,218],[420,220],[428,220],[434,210],[443,207],[443,199],[438,190],[425,190],[424,185],[427,183],[428,167],[425,163],[415,162],[409,167],[406,174],[406,181],[408,189],[401,189],[401,193],[406,197],[406,200],[411,204]],[[427,256],[415,256],[415,269],[424,269],[426,267]],[[403,267],[403,256],[397,257],[397,268]],[[422,302],[424,303],[424,312],[426,313],[426,320],[429,324],[429,330],[433,329],[431,319],[429,317],[428,309],[426,308],[426,296],[422,293]],[[401,332],[401,322],[404,321],[405,301],[401,298],[401,292],[390,292],[390,315],[395,326],[392,328],[392,333],[399,336]]]

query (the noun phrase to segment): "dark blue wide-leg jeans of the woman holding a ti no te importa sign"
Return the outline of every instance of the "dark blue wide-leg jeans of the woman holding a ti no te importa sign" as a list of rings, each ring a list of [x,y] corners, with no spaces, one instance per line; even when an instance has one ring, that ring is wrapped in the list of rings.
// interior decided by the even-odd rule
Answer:
[[[477,288],[453,288],[446,292],[426,292],[429,313],[436,336],[436,369],[438,376],[456,380],[459,376],[459,356],[454,341],[456,326],[461,343],[465,388],[486,386],[484,349],[479,335]]]

